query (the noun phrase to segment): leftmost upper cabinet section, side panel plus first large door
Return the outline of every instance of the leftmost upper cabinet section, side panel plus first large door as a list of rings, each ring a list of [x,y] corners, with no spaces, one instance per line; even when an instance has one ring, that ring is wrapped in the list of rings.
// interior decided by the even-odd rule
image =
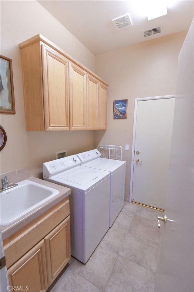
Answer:
[[[69,61],[41,42],[21,52],[26,130],[69,130]]]

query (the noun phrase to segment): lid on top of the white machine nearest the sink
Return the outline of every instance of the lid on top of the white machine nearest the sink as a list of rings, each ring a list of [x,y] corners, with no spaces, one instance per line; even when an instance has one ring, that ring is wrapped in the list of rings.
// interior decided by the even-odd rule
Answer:
[[[58,179],[64,179],[66,182],[74,182],[81,186],[91,182],[94,183],[95,179],[98,180],[98,177],[102,175],[102,170],[99,169],[89,169],[83,167],[76,167],[68,172],[63,172],[57,175]]]

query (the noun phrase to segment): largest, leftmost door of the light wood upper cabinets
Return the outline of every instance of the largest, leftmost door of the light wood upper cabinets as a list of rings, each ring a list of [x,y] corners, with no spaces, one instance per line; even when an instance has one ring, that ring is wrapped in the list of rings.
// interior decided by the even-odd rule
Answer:
[[[42,44],[45,131],[69,130],[69,61]]]

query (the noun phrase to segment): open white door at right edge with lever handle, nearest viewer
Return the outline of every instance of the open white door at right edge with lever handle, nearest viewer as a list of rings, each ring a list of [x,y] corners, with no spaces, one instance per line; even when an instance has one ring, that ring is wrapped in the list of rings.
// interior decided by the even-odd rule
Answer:
[[[194,291],[194,22],[179,54],[165,214],[154,291]],[[157,218],[156,218],[157,220]]]

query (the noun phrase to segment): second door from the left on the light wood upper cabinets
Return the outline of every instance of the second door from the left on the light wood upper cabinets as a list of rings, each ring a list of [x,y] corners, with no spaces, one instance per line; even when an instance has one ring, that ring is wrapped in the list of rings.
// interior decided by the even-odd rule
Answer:
[[[69,63],[70,130],[86,129],[86,72]]]

